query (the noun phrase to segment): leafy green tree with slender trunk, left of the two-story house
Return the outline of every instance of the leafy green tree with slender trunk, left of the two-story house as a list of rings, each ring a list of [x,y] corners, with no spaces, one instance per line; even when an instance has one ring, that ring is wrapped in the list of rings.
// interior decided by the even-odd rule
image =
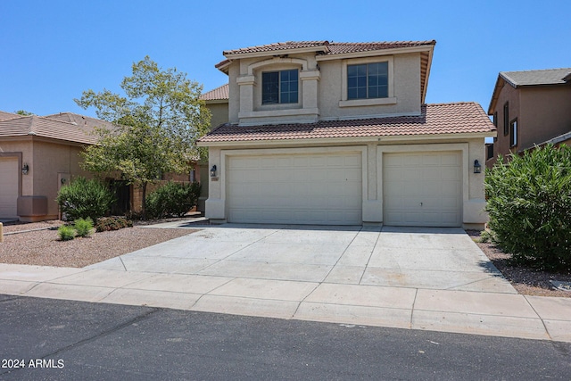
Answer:
[[[205,156],[195,143],[208,132],[211,114],[199,99],[202,85],[186,79],[186,73],[162,70],[148,56],[132,70],[120,84],[126,96],[87,90],[75,102],[84,109],[95,107],[98,118],[116,125],[96,130],[99,144],[86,148],[84,169],[119,172],[141,187],[145,200],[148,184],[164,173],[185,173],[191,160]]]

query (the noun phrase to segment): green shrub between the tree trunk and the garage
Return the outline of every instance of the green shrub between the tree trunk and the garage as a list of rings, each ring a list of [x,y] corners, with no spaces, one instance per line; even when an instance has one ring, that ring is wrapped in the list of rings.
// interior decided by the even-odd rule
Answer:
[[[184,216],[196,205],[200,188],[196,182],[183,184],[169,181],[146,197],[147,217],[161,219]]]

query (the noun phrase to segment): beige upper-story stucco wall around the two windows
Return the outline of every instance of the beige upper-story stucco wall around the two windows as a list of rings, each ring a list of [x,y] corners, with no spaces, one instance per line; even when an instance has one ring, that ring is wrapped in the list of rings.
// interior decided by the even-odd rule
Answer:
[[[389,62],[389,98],[347,102],[346,66]],[[298,104],[261,104],[261,73],[300,70]],[[418,115],[420,54],[317,61],[313,53],[236,60],[228,68],[229,121],[244,125]]]

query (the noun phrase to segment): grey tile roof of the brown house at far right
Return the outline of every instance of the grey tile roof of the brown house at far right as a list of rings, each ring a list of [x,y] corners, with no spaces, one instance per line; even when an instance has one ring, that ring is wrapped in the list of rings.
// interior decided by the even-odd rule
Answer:
[[[511,87],[554,86],[571,84],[571,68],[500,71],[496,84],[493,87],[492,99],[488,107],[488,114],[492,115],[496,102],[500,96],[501,88],[508,83]]]

